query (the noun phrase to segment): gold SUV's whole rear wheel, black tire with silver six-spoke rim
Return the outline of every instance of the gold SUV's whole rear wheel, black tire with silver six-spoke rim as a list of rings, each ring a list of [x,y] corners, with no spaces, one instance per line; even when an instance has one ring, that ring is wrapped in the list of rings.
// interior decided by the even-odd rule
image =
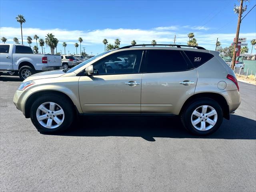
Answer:
[[[220,127],[222,120],[223,112],[220,105],[210,98],[194,100],[181,115],[184,127],[198,135],[212,134]]]

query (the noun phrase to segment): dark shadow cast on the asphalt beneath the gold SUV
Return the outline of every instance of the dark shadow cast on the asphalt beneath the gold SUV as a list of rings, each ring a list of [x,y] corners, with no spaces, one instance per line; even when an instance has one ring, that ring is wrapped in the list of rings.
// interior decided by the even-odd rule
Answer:
[[[256,139],[256,121],[230,115],[230,120],[224,119],[222,126],[215,133],[209,136],[196,136],[185,130],[178,117],[86,116],[81,117],[70,130],[55,135],[142,137],[152,142],[158,137]]]

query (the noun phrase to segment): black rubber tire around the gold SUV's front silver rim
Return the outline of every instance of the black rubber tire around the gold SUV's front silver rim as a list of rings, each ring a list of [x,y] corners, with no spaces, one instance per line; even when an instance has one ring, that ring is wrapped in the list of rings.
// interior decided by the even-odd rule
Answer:
[[[46,128],[42,126],[36,118],[36,111],[38,107],[45,102],[54,102],[58,104],[64,111],[64,120],[62,124],[60,124],[60,126],[58,126],[57,128]],[[38,132],[45,132],[45,133],[62,132],[68,129],[74,120],[73,109],[74,108],[70,103],[70,100],[68,100],[67,98],[63,96],[58,96],[56,94],[48,94],[46,96],[41,96],[32,104],[30,109],[30,119],[34,124],[34,126],[36,127],[36,129],[38,130]]]

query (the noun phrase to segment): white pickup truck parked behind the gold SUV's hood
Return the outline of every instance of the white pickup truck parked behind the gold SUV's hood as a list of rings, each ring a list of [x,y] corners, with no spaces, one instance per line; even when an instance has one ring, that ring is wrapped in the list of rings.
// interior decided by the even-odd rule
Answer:
[[[18,44],[0,44],[0,75],[18,72],[22,80],[45,70],[60,69],[61,56],[33,54],[31,47]]]

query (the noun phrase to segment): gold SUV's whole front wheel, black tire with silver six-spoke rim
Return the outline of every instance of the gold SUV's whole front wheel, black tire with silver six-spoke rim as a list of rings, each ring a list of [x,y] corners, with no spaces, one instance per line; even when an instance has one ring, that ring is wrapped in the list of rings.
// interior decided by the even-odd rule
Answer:
[[[56,94],[38,98],[32,104],[30,119],[39,132],[58,132],[70,127],[74,111],[70,101]]]

